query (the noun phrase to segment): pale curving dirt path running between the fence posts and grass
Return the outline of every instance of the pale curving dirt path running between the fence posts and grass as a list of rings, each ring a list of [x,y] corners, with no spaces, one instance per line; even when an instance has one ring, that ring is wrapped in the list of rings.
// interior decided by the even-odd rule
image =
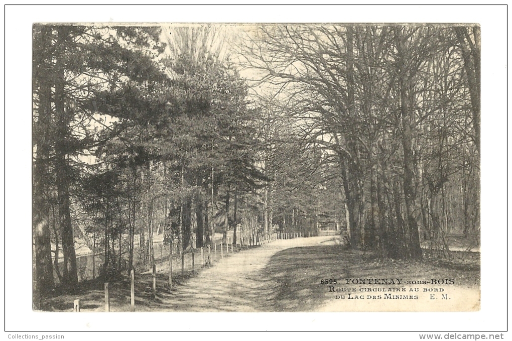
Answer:
[[[215,266],[202,270],[173,290],[161,302],[170,311],[272,311],[268,297],[272,283],[261,276],[261,269],[281,250],[313,246],[330,237],[276,240],[220,259]]]

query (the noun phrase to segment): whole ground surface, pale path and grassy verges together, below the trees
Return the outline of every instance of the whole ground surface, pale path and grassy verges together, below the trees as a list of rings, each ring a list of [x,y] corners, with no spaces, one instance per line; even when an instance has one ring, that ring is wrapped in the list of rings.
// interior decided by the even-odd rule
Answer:
[[[470,253],[468,253],[470,254]],[[169,291],[167,271],[157,273],[157,297],[152,294],[151,273],[139,274],[135,282],[136,311],[473,311],[480,306],[479,258],[473,263],[439,264],[366,257],[358,250],[343,250],[333,236],[277,240],[256,248],[229,253],[210,268],[194,275],[178,273]],[[471,259],[470,259],[471,261]],[[198,263],[196,263],[198,264]],[[461,267],[463,266],[463,267]],[[178,269],[175,270],[178,271]],[[453,279],[456,285],[403,285],[419,299],[403,301],[383,296],[390,286],[342,285],[342,279]],[[339,280],[336,291],[322,279]],[[71,311],[76,298],[82,311],[104,311],[103,283],[84,283],[77,292],[61,294],[45,302],[45,310]],[[348,289],[339,290],[338,289]],[[370,288],[364,299],[349,300],[343,293]],[[393,286],[393,288],[395,288]],[[428,289],[425,291],[425,288]],[[431,290],[438,299],[431,298]],[[406,290],[403,290],[406,289]],[[359,293],[359,291],[357,291]],[[388,290],[389,291],[389,290]],[[339,292],[339,293],[338,293]],[[376,292],[373,294],[373,292]],[[387,292],[387,291],[386,291]],[[393,291],[394,292],[394,291]],[[378,295],[383,297],[378,297]],[[372,295],[377,296],[373,298]],[[368,298],[368,296],[371,296]],[[362,301],[364,300],[364,301]],[[404,298],[405,300],[405,298]],[[111,283],[110,310],[131,311],[130,282]]]

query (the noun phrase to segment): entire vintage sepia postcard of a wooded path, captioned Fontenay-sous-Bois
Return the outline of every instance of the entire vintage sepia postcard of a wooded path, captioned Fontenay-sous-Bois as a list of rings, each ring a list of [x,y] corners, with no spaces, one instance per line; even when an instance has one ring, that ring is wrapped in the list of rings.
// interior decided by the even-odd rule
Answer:
[[[32,38],[34,310],[480,310],[479,24]]]

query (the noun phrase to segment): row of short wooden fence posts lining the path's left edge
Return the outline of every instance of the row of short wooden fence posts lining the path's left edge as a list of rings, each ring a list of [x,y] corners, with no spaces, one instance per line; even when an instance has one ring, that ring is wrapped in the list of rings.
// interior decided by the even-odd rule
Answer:
[[[272,235],[267,235],[261,238],[259,235],[252,236],[248,240],[245,240],[244,238],[241,238],[241,244],[239,244],[239,250],[244,246],[258,246],[262,244],[269,243],[276,239],[293,239],[293,238],[300,238],[304,237],[304,232],[276,232]],[[311,236],[310,236],[311,237]],[[245,243],[247,242],[247,244]],[[205,259],[205,252],[204,248],[201,247],[201,262],[204,266],[211,265],[211,250],[210,246],[207,246],[208,248],[208,255]],[[224,258],[224,242],[221,242],[220,244],[221,248],[221,259]],[[225,249],[226,249],[226,257],[229,254],[229,243],[225,243]],[[192,272],[195,272],[195,249],[192,249]],[[234,245],[231,243],[231,253],[234,253]],[[214,244],[214,261],[217,261],[217,244]],[[152,296],[153,299],[156,299],[156,290],[157,290],[157,282],[156,282],[156,265],[153,264],[152,269],[152,278],[153,278],[153,286],[152,286]],[[169,287],[172,287],[173,279],[172,279],[172,273],[173,273],[173,264],[172,264],[172,253],[169,257]],[[181,257],[181,275],[184,276],[184,257]],[[132,269],[130,271],[130,306],[131,310],[135,310],[135,270]],[[105,311],[110,311],[110,293],[109,293],[109,283],[104,284],[104,291],[105,291]],[[80,311],[80,300],[76,299],[73,301],[73,311],[79,312]]]

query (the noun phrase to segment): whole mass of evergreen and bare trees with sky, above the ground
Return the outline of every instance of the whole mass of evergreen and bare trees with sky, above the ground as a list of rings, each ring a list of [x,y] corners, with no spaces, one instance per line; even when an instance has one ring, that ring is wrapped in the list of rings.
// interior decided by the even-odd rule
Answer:
[[[115,278],[161,236],[479,242],[478,26],[36,24],[32,97],[36,307],[77,243]]]

